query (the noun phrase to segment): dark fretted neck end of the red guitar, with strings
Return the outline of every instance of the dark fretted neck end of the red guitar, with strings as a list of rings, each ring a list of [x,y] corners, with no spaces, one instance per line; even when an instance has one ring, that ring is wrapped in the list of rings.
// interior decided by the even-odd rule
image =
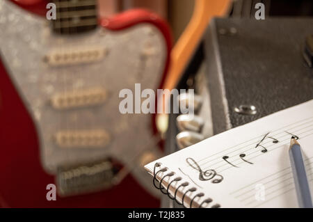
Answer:
[[[76,34],[92,31],[97,27],[97,0],[53,0],[56,19],[52,29],[59,34]]]

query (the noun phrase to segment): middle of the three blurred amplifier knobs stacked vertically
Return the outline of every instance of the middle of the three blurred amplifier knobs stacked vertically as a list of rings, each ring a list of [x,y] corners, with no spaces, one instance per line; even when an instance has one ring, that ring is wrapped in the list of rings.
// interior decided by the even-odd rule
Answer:
[[[204,125],[204,120],[200,116],[186,114],[177,116],[176,122],[180,131],[190,130],[193,132],[200,132]]]

